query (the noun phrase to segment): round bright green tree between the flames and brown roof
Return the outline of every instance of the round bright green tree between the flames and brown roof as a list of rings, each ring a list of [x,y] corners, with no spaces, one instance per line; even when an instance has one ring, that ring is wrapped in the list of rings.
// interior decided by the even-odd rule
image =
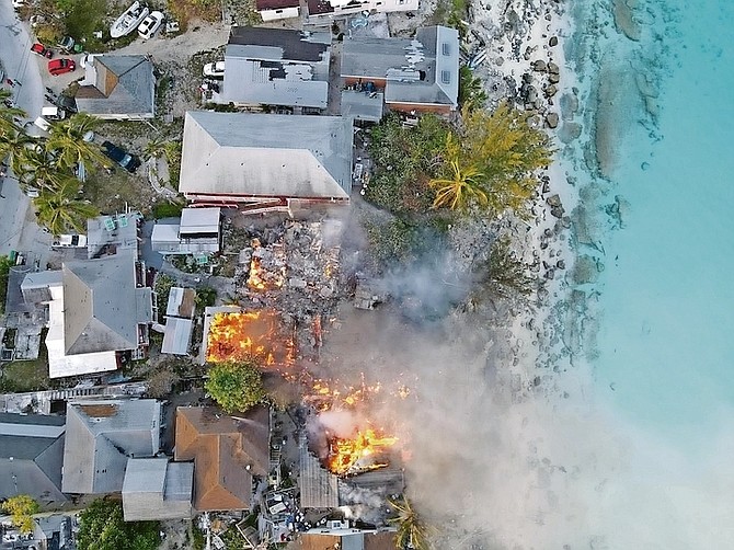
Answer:
[[[265,399],[260,369],[252,363],[217,363],[204,388],[226,412],[243,412]]]

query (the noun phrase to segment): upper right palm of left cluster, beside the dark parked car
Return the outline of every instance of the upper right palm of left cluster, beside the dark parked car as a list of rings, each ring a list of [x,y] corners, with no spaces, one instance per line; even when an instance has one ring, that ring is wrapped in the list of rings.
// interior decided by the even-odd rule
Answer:
[[[85,113],[71,115],[66,121],[54,123],[50,136],[46,140],[46,151],[53,156],[60,168],[73,168],[77,164],[107,164],[106,157],[93,141],[84,137],[100,125],[100,119]]]

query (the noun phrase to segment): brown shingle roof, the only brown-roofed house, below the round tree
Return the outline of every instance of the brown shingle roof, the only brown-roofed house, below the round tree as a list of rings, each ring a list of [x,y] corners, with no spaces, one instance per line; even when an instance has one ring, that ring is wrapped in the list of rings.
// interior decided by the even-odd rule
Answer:
[[[268,470],[268,411],[252,409],[245,421],[202,406],[176,410],[175,459],[194,460],[194,507],[248,509],[252,475]],[[248,470],[249,467],[249,470]]]

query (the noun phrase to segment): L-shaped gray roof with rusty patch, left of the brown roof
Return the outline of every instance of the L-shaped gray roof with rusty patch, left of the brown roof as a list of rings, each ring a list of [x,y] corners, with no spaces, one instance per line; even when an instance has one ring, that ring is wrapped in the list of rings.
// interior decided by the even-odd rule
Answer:
[[[69,402],[61,490],[122,491],[128,459],[156,456],[160,431],[161,404],[154,399]]]

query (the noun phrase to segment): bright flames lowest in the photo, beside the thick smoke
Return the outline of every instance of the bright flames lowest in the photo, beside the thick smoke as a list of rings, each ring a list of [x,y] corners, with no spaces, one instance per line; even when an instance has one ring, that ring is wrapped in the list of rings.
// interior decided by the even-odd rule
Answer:
[[[372,428],[357,431],[351,439],[335,437],[329,444],[328,468],[337,475],[385,468],[383,455],[395,443],[397,437],[380,436]]]

